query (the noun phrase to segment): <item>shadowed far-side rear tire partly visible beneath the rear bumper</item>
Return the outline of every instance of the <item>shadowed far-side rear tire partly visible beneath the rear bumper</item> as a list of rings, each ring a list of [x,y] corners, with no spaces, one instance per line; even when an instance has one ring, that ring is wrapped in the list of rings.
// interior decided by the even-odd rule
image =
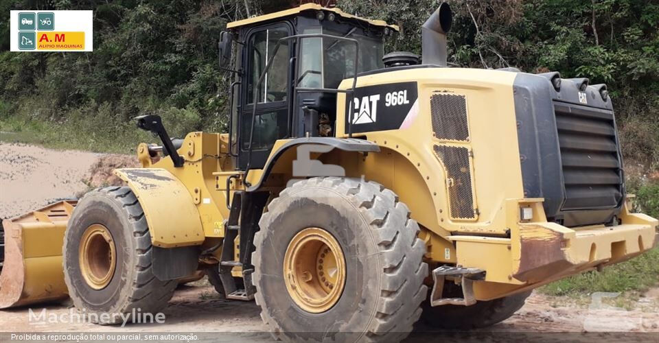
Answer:
[[[489,301],[478,301],[472,306],[442,305],[431,307],[424,303],[421,322],[434,329],[470,330],[492,326],[510,318],[524,306],[531,291],[513,294]]]

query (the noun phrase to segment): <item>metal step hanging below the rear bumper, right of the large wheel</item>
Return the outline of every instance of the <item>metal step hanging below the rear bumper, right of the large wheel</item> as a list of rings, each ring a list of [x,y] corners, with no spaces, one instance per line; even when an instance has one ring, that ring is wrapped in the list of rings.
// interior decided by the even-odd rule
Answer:
[[[462,298],[442,298],[444,283],[446,280],[458,280],[462,285]],[[451,267],[441,265],[432,271],[432,292],[430,293],[430,305],[462,305],[470,306],[476,303],[474,298],[474,280],[485,279],[485,270],[477,268]]]

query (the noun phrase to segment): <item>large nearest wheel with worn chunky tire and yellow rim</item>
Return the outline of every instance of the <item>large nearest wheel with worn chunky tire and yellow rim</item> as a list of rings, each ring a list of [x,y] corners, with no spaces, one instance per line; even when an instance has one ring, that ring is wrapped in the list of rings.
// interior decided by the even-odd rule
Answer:
[[[268,205],[259,226],[255,300],[275,338],[395,342],[419,319],[426,246],[389,189],[352,178],[302,180]],[[328,268],[334,272],[320,274]]]

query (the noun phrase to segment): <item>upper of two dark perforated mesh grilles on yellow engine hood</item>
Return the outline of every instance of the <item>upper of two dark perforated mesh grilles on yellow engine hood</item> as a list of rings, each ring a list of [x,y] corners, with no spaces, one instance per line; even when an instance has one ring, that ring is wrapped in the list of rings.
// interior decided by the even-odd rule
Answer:
[[[432,132],[437,139],[468,141],[467,100],[464,95],[433,94],[430,97]]]

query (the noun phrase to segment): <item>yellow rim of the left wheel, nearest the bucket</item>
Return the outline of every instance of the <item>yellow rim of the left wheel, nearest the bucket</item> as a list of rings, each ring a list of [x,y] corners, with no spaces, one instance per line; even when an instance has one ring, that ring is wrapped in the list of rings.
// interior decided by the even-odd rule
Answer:
[[[108,228],[92,224],[82,234],[80,248],[80,272],[84,281],[93,289],[103,289],[115,274],[117,256],[115,243]]]

